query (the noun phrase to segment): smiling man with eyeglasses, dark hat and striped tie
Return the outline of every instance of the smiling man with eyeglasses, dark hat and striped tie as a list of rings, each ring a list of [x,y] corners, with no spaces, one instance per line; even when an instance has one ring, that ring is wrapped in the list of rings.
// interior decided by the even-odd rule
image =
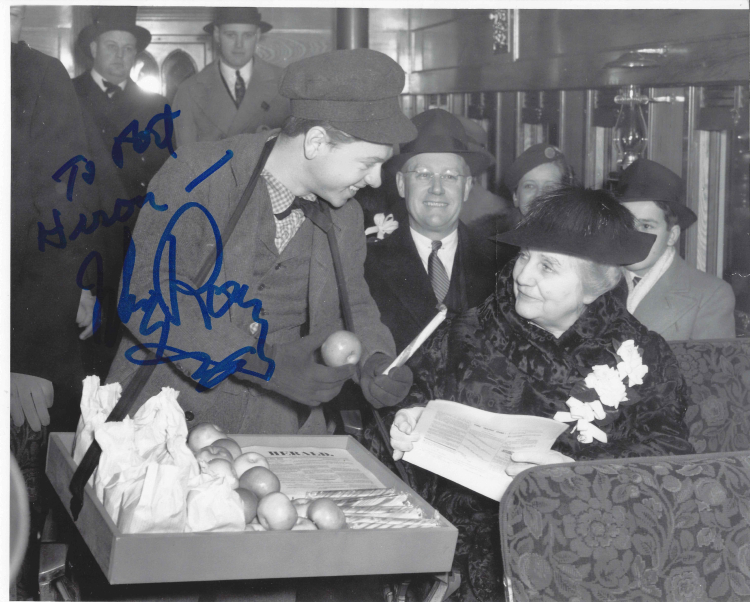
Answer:
[[[493,290],[494,257],[483,255],[459,214],[472,176],[492,157],[469,146],[460,120],[442,109],[412,119],[415,140],[384,165],[401,197],[391,210],[398,228],[368,245],[365,279],[381,320],[401,351],[444,303],[449,315],[483,301]]]

